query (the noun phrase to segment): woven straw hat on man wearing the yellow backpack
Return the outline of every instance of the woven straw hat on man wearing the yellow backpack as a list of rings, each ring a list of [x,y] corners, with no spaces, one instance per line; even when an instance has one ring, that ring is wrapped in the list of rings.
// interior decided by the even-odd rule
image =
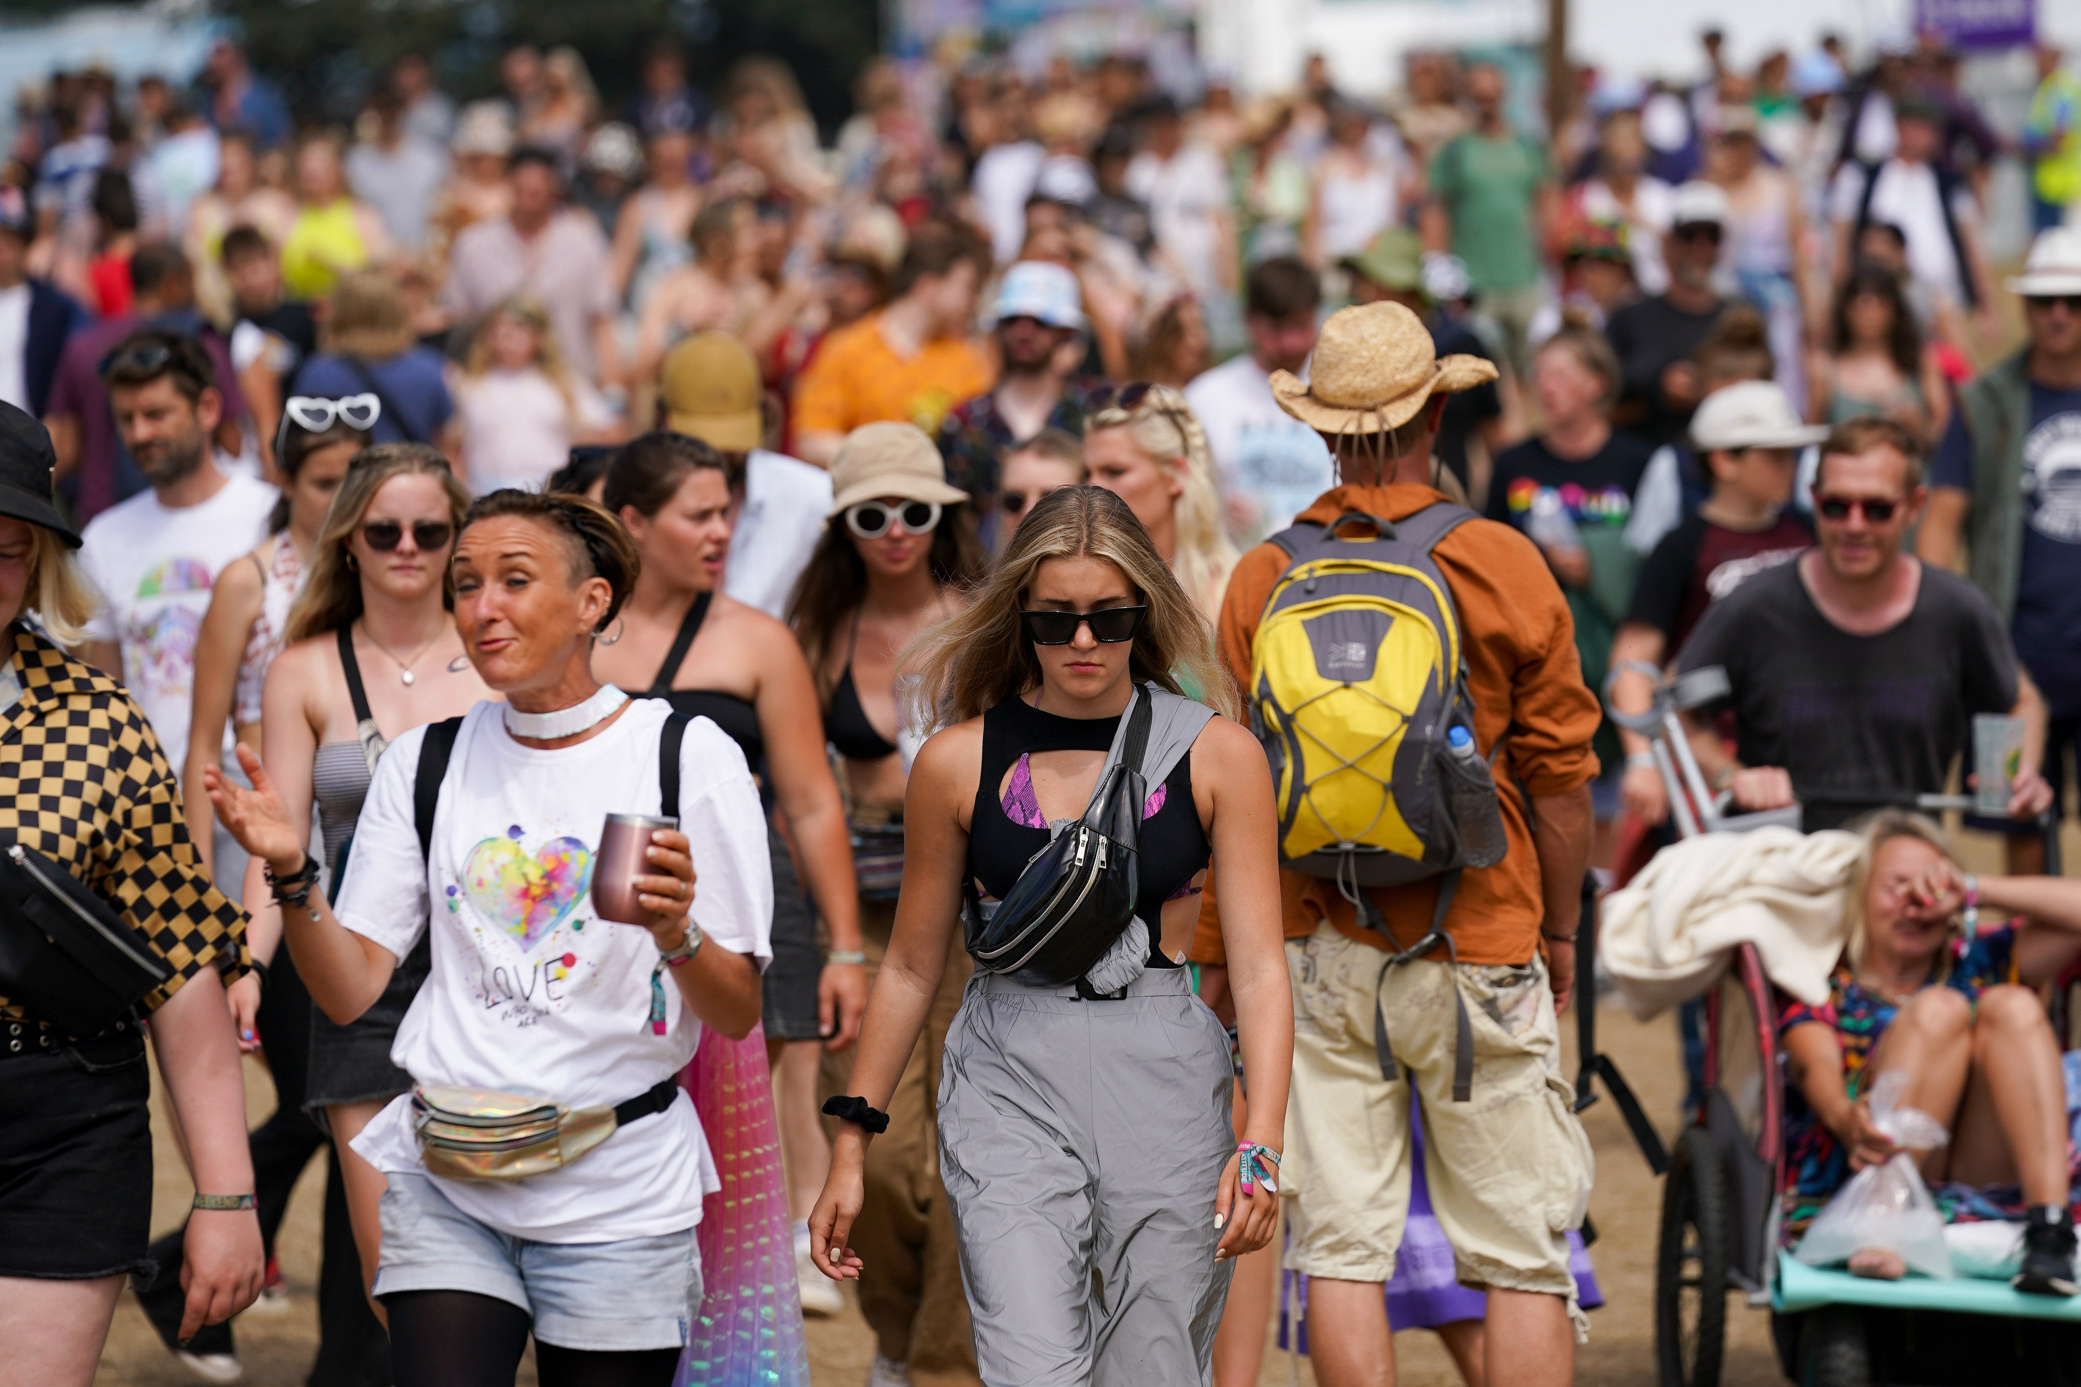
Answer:
[[[1330,314],[1309,378],[1274,370],[1271,395],[1317,433],[1388,433],[1413,420],[1432,395],[1494,378],[1496,364],[1478,356],[1438,360],[1430,329],[1401,304],[1365,304]]]

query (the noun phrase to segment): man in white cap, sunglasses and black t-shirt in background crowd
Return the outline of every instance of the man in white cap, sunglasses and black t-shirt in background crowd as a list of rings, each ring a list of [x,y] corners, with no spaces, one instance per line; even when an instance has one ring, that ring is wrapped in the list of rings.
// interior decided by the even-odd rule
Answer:
[[[1727,308],[1713,289],[1725,227],[1725,191],[1702,181],[1681,185],[1671,198],[1663,239],[1669,287],[1613,312],[1604,324],[1625,376],[1613,424],[1654,447],[1681,441],[1692,410],[1704,399],[1692,358]]]

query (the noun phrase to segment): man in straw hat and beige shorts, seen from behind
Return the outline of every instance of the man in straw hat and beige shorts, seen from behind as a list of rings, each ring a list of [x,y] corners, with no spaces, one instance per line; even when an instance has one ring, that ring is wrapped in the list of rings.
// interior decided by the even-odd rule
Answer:
[[[1315,526],[1351,512],[1394,526],[1446,503],[1432,451],[1444,403],[1494,378],[1492,362],[1440,360],[1401,304],[1334,314],[1309,381],[1271,376],[1280,408],[1321,435],[1340,478],[1280,539],[1321,543]],[[1286,1266],[1311,1277],[1309,1337],[1324,1387],[1371,1383],[1394,1356],[1382,1285],[1394,1275],[1409,1208],[1417,1100],[1430,1200],[1457,1275],[1488,1287],[1490,1381],[1571,1381],[1571,1320],[1586,1329],[1565,1233],[1588,1204],[1590,1146],[1559,1069],[1557,1004],[1575,977],[1598,705],[1582,682],[1567,601],[1538,549],[1471,516],[1432,512],[1421,524],[1436,528],[1440,518],[1455,524],[1430,561],[1450,588],[1467,668],[1471,707],[1459,715],[1496,780],[1523,786],[1532,813],[1517,792],[1498,794],[1507,846],[1492,867],[1351,886],[1351,898],[1338,882],[1280,873],[1296,1023]],[[1344,526],[1338,539],[1369,539],[1367,528]],[[1267,599],[1290,561],[1267,541],[1228,580],[1222,659],[1247,686]],[[1348,661],[1351,634],[1340,630],[1326,657]],[[1192,957],[1215,1002],[1226,992],[1217,923],[1209,884]],[[1411,950],[1434,925],[1450,950]],[[1401,950],[1415,957],[1390,967]],[[1459,1050],[1478,1065],[1457,1065]]]

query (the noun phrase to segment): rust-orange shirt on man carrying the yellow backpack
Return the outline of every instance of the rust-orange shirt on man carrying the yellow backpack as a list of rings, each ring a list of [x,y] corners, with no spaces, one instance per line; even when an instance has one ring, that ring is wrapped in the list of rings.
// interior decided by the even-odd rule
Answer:
[[[1301,512],[1301,520],[1328,522],[1344,512],[1401,520],[1444,499],[1442,493],[1415,485],[1338,487]],[[1596,778],[1590,738],[1600,709],[1582,682],[1567,599],[1530,539],[1507,524],[1469,520],[1432,549],[1432,559],[1459,609],[1475,744],[1488,751],[1502,742],[1496,780],[1502,782],[1502,828],[1509,838],[1509,853],[1500,863],[1461,873],[1446,930],[1461,963],[1525,963],[1538,950],[1546,902],[1540,896],[1540,861],[1523,794],[1565,794]],[[1217,624],[1222,663],[1244,688],[1251,684],[1251,640],[1286,564],[1284,549],[1263,543],[1242,555],[1228,578]],[[1509,784],[1513,780],[1523,786],[1523,794]],[[1398,948],[1415,944],[1430,930],[1438,886],[1438,880],[1430,880],[1371,892]],[[1226,959],[1213,888],[1209,880],[1192,938],[1192,959],[1201,963]],[[1328,919],[1363,944],[1388,946],[1380,934],[1359,927],[1357,911],[1338,894],[1336,882],[1280,871],[1280,907],[1286,938],[1313,934]]]

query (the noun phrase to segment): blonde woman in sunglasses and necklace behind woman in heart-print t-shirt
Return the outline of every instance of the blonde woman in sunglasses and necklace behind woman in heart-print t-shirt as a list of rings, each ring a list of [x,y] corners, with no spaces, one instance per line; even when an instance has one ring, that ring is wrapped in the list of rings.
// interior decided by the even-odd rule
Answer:
[[[447,460],[418,443],[362,449],[325,516],[310,578],[289,609],[287,649],[266,676],[260,755],[289,821],[308,842],[312,803],[325,865],[339,882],[354,823],[385,747],[408,728],[462,713],[493,697],[456,636],[449,557],[468,495]],[[246,871],[254,957],[291,969],[281,909]],[[395,1094],[410,1088],[391,1065],[391,1042],[427,977],[425,950],[404,959],[383,996],[354,1023],[312,1019],[304,1106],[323,1115],[343,1177],[364,1285],[377,1271],[383,1175],[348,1144]]]

